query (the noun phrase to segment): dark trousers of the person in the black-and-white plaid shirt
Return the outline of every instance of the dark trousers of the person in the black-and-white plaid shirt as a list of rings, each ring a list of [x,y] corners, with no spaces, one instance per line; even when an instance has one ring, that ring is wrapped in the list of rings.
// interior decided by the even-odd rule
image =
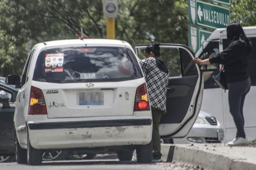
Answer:
[[[159,122],[164,111],[155,107],[151,107],[151,111],[152,111],[152,119],[153,119],[153,134],[152,134],[153,155],[162,156],[160,152],[161,142],[160,142],[160,134],[159,134]]]

